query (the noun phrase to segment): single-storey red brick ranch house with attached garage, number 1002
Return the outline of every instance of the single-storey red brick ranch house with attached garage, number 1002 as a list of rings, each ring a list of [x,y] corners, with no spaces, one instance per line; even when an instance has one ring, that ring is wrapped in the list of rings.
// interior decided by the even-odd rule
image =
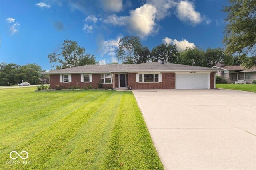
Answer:
[[[217,68],[187,66],[162,62],[120,65],[85,65],[52,70],[50,86],[80,86],[133,89],[213,89]]]

